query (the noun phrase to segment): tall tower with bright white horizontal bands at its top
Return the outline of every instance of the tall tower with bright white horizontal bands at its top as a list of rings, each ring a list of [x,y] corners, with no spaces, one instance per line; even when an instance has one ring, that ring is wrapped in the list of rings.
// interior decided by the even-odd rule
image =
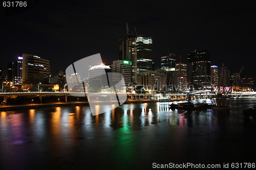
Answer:
[[[137,72],[153,70],[153,44],[151,37],[137,36]]]

